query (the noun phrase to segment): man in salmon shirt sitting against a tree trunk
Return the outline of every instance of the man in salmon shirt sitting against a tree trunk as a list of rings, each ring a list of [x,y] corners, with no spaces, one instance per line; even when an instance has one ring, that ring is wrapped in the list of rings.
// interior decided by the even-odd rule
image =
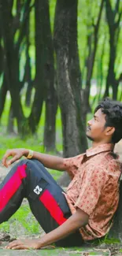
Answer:
[[[8,249],[80,246],[104,237],[119,201],[121,164],[113,153],[122,138],[122,104],[105,98],[88,121],[87,138],[92,148],[74,158],[59,158],[26,149],[7,150],[6,167],[17,159],[0,187],[0,223],[7,221],[28,198],[32,213],[46,235],[35,240],[16,240]],[[12,156],[8,161],[9,156]],[[30,158],[31,160],[29,160]],[[67,191],[57,185],[45,167],[67,171],[72,177]]]

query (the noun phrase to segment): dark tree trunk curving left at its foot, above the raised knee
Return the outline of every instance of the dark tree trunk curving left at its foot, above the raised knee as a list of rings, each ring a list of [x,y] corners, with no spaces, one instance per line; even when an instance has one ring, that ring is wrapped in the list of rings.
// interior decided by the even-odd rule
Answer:
[[[46,95],[45,84],[45,8],[46,1],[35,1],[35,98],[29,117],[31,132],[35,133],[39,124],[43,109],[43,101]]]

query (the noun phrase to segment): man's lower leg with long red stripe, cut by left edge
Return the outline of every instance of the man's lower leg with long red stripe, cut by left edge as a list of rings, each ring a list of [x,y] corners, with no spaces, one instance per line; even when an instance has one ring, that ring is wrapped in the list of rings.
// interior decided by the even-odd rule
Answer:
[[[24,198],[26,161],[19,161],[0,184],[0,224],[15,213]]]

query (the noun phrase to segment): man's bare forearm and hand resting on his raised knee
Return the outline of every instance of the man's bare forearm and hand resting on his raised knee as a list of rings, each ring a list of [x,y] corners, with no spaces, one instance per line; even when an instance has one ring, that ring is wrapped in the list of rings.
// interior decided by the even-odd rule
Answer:
[[[6,154],[2,158],[2,164],[8,167],[9,165],[13,164],[14,161],[17,161],[22,156],[27,157],[29,153],[28,149],[24,148],[17,148],[13,150],[7,150]],[[13,157],[8,160],[9,157]],[[33,157],[43,163],[43,165],[50,169],[57,169],[61,171],[65,171],[65,164],[64,158],[59,158],[56,156],[52,156],[50,154],[43,154],[39,152],[33,153]]]

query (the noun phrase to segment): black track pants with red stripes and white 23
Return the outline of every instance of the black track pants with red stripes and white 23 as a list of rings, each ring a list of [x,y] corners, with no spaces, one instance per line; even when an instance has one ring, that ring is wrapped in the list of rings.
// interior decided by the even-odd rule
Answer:
[[[48,233],[63,224],[71,212],[62,188],[37,160],[24,159],[14,165],[0,184],[0,223],[7,221],[28,198],[31,212]],[[60,247],[80,246],[79,231],[57,241]]]

